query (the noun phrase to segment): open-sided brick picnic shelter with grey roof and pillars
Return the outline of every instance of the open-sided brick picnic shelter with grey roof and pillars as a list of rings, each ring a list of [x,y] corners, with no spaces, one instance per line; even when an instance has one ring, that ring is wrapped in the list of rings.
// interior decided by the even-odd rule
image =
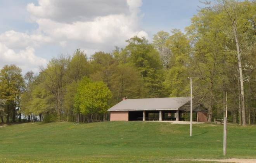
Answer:
[[[188,115],[185,113],[190,112],[190,97],[123,98],[108,111],[110,121],[184,121]],[[207,121],[202,105],[193,105],[193,113],[194,121]]]

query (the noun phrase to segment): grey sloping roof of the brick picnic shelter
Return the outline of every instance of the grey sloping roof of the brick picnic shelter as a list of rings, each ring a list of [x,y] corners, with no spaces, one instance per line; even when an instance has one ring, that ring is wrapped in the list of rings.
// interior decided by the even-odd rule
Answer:
[[[127,99],[114,105],[108,111],[178,110],[189,101],[190,97]]]

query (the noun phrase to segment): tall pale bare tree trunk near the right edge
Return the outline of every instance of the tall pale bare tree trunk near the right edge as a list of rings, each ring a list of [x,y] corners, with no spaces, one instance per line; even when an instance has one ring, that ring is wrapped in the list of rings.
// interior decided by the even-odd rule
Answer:
[[[236,22],[234,21],[232,24],[233,32],[235,35],[235,45],[237,48],[237,59],[238,59],[238,68],[239,68],[239,76],[240,76],[240,91],[241,91],[241,104],[242,104],[242,124],[246,125],[246,110],[245,110],[245,102],[244,102],[244,81],[243,81],[243,72],[242,72],[242,63],[241,63],[241,51],[239,47],[237,30],[236,30]]]

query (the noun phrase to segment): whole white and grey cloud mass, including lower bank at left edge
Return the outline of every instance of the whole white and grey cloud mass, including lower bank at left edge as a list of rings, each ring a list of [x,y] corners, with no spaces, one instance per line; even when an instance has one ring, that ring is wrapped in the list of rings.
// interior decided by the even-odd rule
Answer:
[[[31,21],[38,25],[29,32],[9,30],[0,34],[0,66],[16,64],[24,71],[45,65],[35,55],[44,45],[60,47],[65,53],[81,48],[87,53],[111,51],[125,46],[137,35],[148,38],[139,27],[142,0],[39,0],[29,3]],[[72,53],[72,52],[71,52]],[[57,54],[48,54],[57,55]],[[51,58],[51,57],[49,57]]]

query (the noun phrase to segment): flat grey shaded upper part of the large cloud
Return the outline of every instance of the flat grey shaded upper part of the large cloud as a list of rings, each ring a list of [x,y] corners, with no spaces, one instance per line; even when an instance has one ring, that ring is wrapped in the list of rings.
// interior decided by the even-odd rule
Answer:
[[[74,22],[111,14],[130,14],[126,0],[39,0],[38,4],[27,6],[32,19]]]

